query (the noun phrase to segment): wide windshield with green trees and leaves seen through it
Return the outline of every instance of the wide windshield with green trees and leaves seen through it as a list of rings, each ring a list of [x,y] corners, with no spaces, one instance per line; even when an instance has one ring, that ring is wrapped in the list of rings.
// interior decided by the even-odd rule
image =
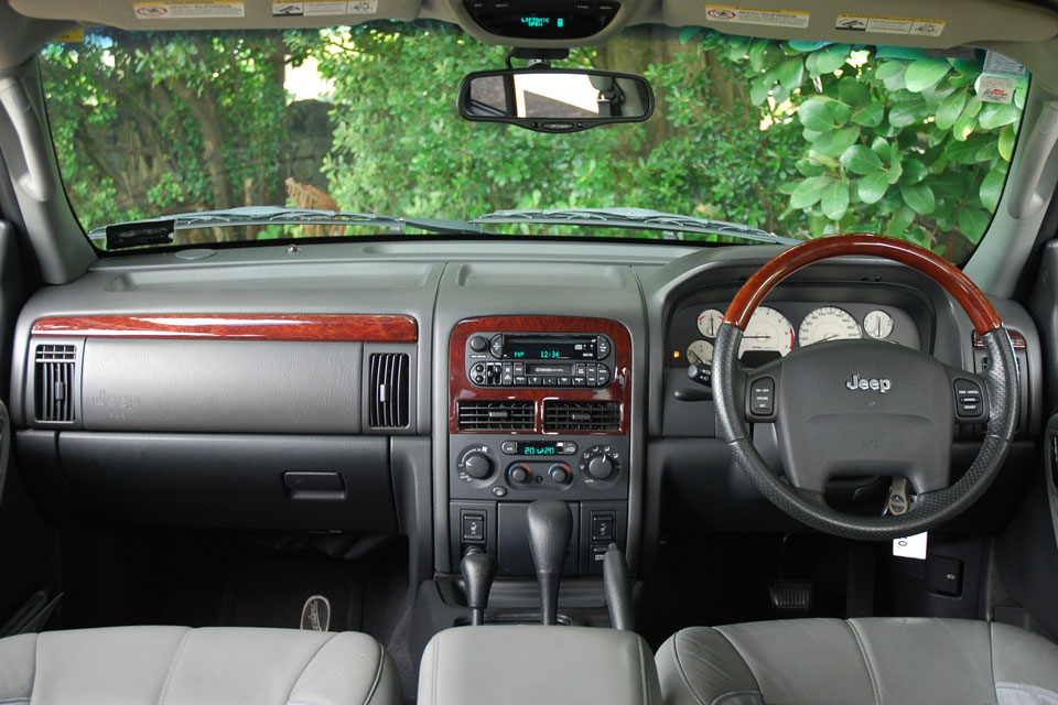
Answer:
[[[747,241],[611,217],[651,209],[782,238],[885,234],[960,264],[1002,195],[1028,82],[980,50],[640,26],[557,65],[644,74],[657,99],[646,122],[546,134],[463,120],[461,80],[504,66],[506,51],[436,22],[102,29],[47,45],[41,66],[66,191],[100,248],[110,224],[242,206],[464,225],[497,210],[605,208],[465,231]],[[203,219],[163,243],[464,231],[274,210]]]

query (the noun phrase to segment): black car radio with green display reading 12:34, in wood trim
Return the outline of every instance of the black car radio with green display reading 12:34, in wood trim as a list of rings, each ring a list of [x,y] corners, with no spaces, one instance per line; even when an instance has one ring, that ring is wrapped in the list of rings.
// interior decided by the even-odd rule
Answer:
[[[596,334],[479,333],[466,341],[466,378],[475,387],[583,387],[614,378],[613,341]]]

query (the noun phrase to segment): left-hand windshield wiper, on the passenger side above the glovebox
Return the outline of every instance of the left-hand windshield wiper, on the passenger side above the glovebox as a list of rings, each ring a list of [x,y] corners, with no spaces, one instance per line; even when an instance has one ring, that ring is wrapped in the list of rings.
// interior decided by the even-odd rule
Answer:
[[[224,210],[197,210],[179,213],[160,218],[145,218],[129,223],[158,223],[173,220],[175,230],[202,228],[234,228],[255,225],[336,225],[358,227],[387,227],[403,232],[404,228],[425,230],[435,235],[482,235],[482,226],[466,220],[441,218],[408,218],[403,216],[376,215],[370,213],[345,213],[312,208],[283,208],[280,206],[241,206]],[[122,224],[123,225],[123,224]],[[105,239],[106,226],[88,234],[93,239]]]

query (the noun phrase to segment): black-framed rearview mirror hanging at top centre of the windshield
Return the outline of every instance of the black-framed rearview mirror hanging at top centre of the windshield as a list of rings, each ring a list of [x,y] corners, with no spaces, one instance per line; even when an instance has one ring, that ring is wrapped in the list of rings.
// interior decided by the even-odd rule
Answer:
[[[538,132],[576,132],[612,122],[643,122],[654,91],[643,76],[608,70],[479,70],[460,86],[460,115]]]

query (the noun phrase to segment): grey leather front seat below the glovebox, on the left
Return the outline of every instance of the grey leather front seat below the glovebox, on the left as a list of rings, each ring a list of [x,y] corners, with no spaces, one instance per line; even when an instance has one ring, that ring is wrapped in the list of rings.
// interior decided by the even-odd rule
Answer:
[[[116,627],[0,639],[0,703],[400,702],[392,660],[357,632]]]

